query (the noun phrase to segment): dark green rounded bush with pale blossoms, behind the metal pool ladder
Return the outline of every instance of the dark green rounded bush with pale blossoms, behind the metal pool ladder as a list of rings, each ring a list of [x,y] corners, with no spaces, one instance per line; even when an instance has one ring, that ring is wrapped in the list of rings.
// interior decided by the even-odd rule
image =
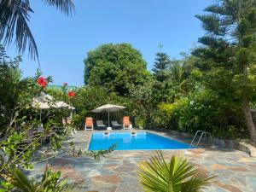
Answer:
[[[203,90],[190,97],[179,114],[178,127],[181,131],[209,131],[216,137],[243,137],[245,123],[240,108],[228,100],[222,100]],[[235,129],[230,132],[230,126]]]

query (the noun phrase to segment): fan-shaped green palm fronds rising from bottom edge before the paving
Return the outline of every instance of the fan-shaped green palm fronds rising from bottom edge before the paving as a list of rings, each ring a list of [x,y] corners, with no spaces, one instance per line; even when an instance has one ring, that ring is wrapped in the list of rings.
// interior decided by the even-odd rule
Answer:
[[[138,177],[146,192],[196,192],[204,189],[215,177],[177,156],[166,161],[161,152],[138,166]]]

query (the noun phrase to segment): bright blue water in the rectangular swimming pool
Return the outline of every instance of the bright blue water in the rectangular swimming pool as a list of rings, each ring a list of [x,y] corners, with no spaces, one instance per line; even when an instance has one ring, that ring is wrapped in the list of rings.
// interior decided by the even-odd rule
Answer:
[[[155,150],[155,149],[184,149],[189,144],[177,140],[161,137],[150,132],[137,132],[137,136],[131,136],[131,132],[93,133],[89,150],[104,150],[117,144],[115,150]]]

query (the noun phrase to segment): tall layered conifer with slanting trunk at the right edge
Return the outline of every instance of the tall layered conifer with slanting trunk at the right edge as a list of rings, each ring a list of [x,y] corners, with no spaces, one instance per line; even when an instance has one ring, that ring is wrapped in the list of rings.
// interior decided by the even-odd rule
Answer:
[[[256,2],[221,0],[196,15],[207,35],[195,49],[204,84],[226,99],[241,104],[250,140],[256,144],[251,103],[256,98]]]

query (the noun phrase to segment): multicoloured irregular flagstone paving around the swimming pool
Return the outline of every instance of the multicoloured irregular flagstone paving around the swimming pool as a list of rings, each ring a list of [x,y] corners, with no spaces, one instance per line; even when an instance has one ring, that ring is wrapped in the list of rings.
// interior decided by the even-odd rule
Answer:
[[[68,138],[67,143],[73,141],[77,148],[87,148],[90,135],[91,132],[79,131],[79,135]],[[166,158],[173,154],[181,155],[200,168],[214,173],[217,177],[212,185],[203,191],[256,191],[256,158],[244,152],[199,148],[165,150],[163,153]],[[147,160],[151,154],[153,151],[113,151],[100,161],[88,156],[73,157],[71,154],[61,154],[48,163],[64,176],[79,181],[78,189],[75,191],[136,192],[142,191],[137,183],[137,163]],[[40,177],[45,164],[46,162],[37,164],[29,175]]]

